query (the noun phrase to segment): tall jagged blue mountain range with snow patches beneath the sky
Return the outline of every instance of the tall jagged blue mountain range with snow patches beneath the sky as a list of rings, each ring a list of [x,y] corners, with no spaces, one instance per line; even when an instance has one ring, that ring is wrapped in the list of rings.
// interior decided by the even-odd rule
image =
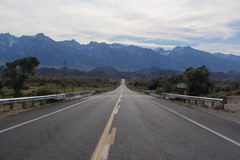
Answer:
[[[108,66],[132,72],[156,66],[164,70],[183,71],[187,67],[206,65],[213,72],[240,71],[240,56],[212,54],[190,46],[164,50],[118,43],[55,41],[43,33],[21,37],[0,34],[0,65],[27,56],[37,57],[41,67],[67,66],[81,70]]]

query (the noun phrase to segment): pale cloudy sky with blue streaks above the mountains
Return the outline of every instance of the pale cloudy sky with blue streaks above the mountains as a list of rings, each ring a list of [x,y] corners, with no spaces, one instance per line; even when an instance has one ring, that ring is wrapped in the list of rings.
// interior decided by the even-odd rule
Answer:
[[[0,0],[0,32],[240,55],[240,0]]]

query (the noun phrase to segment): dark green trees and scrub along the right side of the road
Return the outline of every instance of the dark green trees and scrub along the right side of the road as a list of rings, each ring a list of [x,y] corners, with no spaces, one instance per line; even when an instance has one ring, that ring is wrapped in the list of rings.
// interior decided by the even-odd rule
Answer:
[[[179,84],[184,84],[184,87],[179,87]],[[183,73],[168,78],[128,79],[127,87],[143,93],[152,91],[157,94],[167,92],[191,96],[223,98],[227,100],[226,102],[228,102],[227,106],[229,106],[229,108],[239,110],[237,105],[240,104],[240,82],[210,81],[209,71],[206,66],[187,68]],[[209,106],[211,106],[210,103]],[[203,107],[206,108],[207,106]],[[222,107],[220,108],[222,109]],[[219,107],[215,106],[213,109],[219,110]]]

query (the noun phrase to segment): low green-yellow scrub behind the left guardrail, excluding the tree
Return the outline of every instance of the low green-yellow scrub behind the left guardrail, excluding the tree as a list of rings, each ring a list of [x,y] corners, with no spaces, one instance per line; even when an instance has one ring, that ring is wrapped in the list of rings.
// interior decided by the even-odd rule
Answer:
[[[96,90],[97,93],[100,93],[114,90],[119,86],[119,84],[119,79],[64,75],[34,75],[29,77],[29,79],[24,83],[24,86],[20,90],[20,96],[41,96],[87,90]],[[12,98],[15,96],[15,91],[11,87],[2,85],[2,89],[0,91],[2,98]]]

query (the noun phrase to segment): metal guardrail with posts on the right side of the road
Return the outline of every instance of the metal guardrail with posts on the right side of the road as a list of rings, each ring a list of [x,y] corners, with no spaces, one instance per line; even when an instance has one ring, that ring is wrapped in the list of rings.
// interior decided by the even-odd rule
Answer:
[[[222,105],[222,109],[224,109],[224,99],[219,99],[219,98],[208,98],[208,97],[198,97],[198,96],[188,96],[188,95],[180,95],[180,94],[172,94],[172,93],[165,93],[162,92],[159,95],[156,95],[154,93],[151,93],[151,95],[159,96],[161,98],[166,98],[166,99],[185,99],[185,100],[194,100],[195,104],[197,105],[197,101],[201,101],[202,105],[204,105],[204,102],[211,102],[212,107],[214,106],[214,103],[219,103]]]

